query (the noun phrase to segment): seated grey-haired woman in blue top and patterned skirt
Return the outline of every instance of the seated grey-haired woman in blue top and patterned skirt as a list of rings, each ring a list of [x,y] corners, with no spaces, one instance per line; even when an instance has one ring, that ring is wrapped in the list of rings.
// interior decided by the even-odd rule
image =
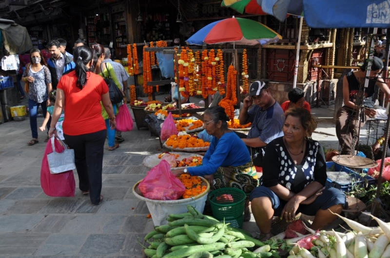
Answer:
[[[234,187],[246,193],[252,192],[257,186],[257,173],[244,142],[228,129],[229,118],[225,109],[220,106],[210,107],[203,117],[203,128],[213,136],[213,140],[203,157],[202,165],[172,172],[176,176],[183,173],[204,176],[212,189]],[[249,200],[246,202],[248,206]],[[245,215],[249,215],[250,219],[249,208]]]

